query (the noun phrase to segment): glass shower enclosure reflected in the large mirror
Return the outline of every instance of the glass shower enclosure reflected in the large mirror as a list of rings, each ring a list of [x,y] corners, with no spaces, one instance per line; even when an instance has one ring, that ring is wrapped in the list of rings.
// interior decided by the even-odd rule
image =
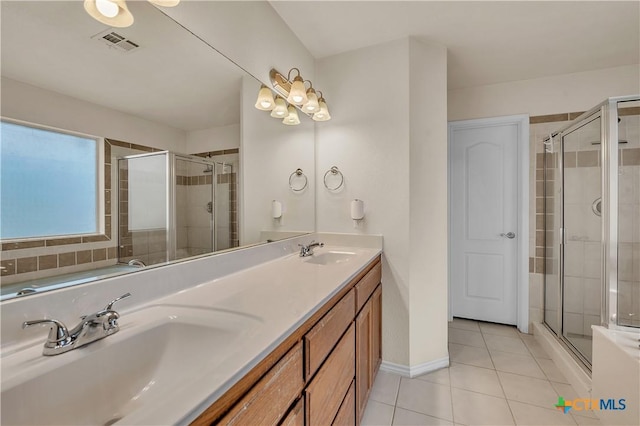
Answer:
[[[119,262],[149,266],[232,247],[231,174],[229,164],[168,151],[119,159]]]

